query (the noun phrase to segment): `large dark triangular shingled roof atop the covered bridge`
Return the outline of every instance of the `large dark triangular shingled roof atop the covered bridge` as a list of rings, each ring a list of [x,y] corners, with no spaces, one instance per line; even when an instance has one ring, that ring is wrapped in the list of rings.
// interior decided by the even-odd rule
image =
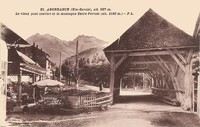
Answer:
[[[186,34],[167,20],[149,9],[135,24],[133,24],[119,39],[104,49],[147,50],[156,48],[174,48],[198,46],[192,36]]]

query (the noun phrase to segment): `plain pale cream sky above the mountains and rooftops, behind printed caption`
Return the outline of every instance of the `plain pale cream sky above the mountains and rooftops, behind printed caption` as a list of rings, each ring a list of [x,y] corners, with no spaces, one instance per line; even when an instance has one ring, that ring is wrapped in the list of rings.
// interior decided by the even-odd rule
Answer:
[[[112,43],[149,8],[192,35],[199,5],[200,0],[0,0],[0,22],[24,39],[36,33],[51,34],[66,41],[87,35]],[[107,13],[132,12],[133,15],[16,15],[16,12],[40,13],[40,8],[107,8],[111,10]]]

